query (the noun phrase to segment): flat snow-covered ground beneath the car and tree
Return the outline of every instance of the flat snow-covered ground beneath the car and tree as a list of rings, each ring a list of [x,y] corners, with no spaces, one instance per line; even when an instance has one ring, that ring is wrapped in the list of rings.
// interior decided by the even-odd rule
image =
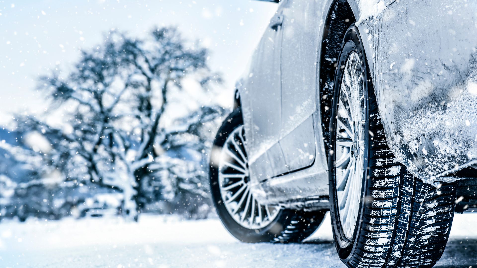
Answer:
[[[477,267],[477,215],[456,215],[436,267]],[[344,267],[327,217],[301,244],[245,244],[218,219],[143,215],[139,223],[87,218],[0,223],[0,267]]]

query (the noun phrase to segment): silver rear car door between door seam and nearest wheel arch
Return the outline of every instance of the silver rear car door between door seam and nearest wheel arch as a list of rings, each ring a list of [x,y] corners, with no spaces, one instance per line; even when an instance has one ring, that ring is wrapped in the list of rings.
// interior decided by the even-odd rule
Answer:
[[[290,171],[312,165],[316,154],[318,2],[286,0],[282,8],[280,145]]]

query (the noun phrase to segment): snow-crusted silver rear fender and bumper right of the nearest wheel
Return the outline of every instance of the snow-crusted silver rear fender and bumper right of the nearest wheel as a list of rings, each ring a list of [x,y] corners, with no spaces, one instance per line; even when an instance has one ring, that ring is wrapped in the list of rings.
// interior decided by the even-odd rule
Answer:
[[[350,5],[397,160],[429,183],[477,163],[477,1]]]

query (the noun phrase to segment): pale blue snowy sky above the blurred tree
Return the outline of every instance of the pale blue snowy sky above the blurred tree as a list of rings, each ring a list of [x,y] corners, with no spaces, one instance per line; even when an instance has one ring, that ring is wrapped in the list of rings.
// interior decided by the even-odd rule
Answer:
[[[144,36],[153,25],[175,25],[209,47],[211,67],[232,88],[277,4],[256,0],[0,0],[0,124],[11,112],[45,108],[36,78],[68,67],[112,28]]]

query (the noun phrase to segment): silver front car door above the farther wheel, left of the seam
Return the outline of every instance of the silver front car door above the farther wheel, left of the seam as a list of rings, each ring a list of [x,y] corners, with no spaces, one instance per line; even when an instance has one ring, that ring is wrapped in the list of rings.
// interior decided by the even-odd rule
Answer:
[[[242,85],[242,111],[252,178],[288,171],[280,148],[282,5],[270,20]]]

